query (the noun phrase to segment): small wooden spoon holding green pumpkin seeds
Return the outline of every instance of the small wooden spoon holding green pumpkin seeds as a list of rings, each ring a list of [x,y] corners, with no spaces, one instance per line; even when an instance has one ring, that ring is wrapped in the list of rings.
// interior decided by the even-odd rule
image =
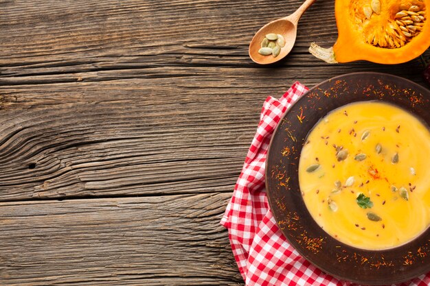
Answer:
[[[302,14],[312,5],[315,0],[306,0],[304,3],[290,16],[271,21],[264,25],[258,32],[253,36],[251,43],[249,44],[249,57],[251,60],[258,64],[271,64],[273,62],[278,62],[282,60],[291,49],[295,43],[295,37],[297,36],[297,23]],[[277,57],[272,55],[262,56],[258,53],[261,48],[261,42],[266,36],[266,34],[281,34],[285,38],[285,46],[281,48],[280,54]]]

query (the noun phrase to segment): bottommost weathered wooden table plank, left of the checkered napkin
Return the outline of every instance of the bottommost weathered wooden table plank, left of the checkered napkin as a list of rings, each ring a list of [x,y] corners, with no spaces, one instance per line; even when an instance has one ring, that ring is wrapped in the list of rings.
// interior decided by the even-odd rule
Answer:
[[[1,285],[238,285],[230,195],[0,204]]]

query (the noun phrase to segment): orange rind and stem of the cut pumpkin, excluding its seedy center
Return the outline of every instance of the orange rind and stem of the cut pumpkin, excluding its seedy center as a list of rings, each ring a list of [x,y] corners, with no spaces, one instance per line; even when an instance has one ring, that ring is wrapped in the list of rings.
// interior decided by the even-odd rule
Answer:
[[[367,0],[356,0],[367,1]],[[370,0],[369,0],[370,1]],[[385,16],[385,21],[381,20],[381,27],[387,22],[388,15],[394,15],[398,12],[400,3],[410,1],[396,1],[396,0],[380,0],[381,1],[381,16]],[[363,32],[359,31],[357,23],[354,23],[352,19],[352,3],[351,0],[336,0],[335,1],[335,16],[338,29],[338,38],[332,50],[319,48],[319,52],[334,53],[328,60],[325,56],[321,56],[321,53],[312,51],[315,48],[315,44],[311,45],[310,52],[313,53],[317,58],[326,60],[326,62],[352,62],[355,60],[367,60],[370,62],[376,62],[378,64],[400,64],[402,62],[408,62],[418,56],[420,56],[430,46],[430,20],[429,15],[426,14],[424,26],[422,31],[411,38],[409,43],[406,43],[403,47],[389,49],[385,47],[376,47],[370,43],[366,43]],[[425,4],[425,12],[428,13],[430,10],[430,0],[423,0]],[[388,7],[389,9],[385,9]],[[377,19],[379,19],[377,18]],[[378,21],[378,20],[376,20]],[[377,24],[377,22],[376,22]],[[376,25],[375,25],[376,26]],[[323,51],[324,50],[324,51]]]

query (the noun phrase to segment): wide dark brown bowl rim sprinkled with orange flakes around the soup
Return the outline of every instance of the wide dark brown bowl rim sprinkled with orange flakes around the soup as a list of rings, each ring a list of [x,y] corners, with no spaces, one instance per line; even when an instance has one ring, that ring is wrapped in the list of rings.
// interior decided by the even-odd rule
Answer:
[[[318,226],[299,190],[297,167],[308,132],[331,110],[367,100],[400,106],[430,126],[427,88],[383,73],[350,73],[332,78],[310,89],[278,124],[267,154],[266,187],[271,211],[282,233],[310,263],[342,280],[387,285],[430,271],[430,228],[396,248],[377,251],[354,248]],[[301,123],[297,115],[302,110]],[[289,155],[282,154],[286,147],[291,150]]]

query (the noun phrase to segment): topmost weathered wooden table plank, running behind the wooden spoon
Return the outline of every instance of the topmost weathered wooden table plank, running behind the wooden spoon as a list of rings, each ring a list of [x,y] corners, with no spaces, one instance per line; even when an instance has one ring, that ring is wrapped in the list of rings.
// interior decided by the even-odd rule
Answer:
[[[1,73],[8,76],[126,69],[135,62],[250,64],[245,55],[253,33],[300,5],[297,0],[274,1],[270,8],[262,0],[0,3],[0,67],[7,67]],[[333,7],[332,1],[319,1],[306,12],[297,52],[306,51],[311,39],[334,43]]]

